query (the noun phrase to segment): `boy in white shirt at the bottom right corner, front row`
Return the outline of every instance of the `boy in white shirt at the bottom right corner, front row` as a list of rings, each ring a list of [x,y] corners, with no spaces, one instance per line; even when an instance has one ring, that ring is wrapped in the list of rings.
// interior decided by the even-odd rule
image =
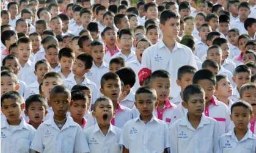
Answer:
[[[235,102],[231,107],[231,115],[235,127],[219,138],[219,153],[256,152],[256,135],[247,127],[254,119],[252,106],[246,101]]]

